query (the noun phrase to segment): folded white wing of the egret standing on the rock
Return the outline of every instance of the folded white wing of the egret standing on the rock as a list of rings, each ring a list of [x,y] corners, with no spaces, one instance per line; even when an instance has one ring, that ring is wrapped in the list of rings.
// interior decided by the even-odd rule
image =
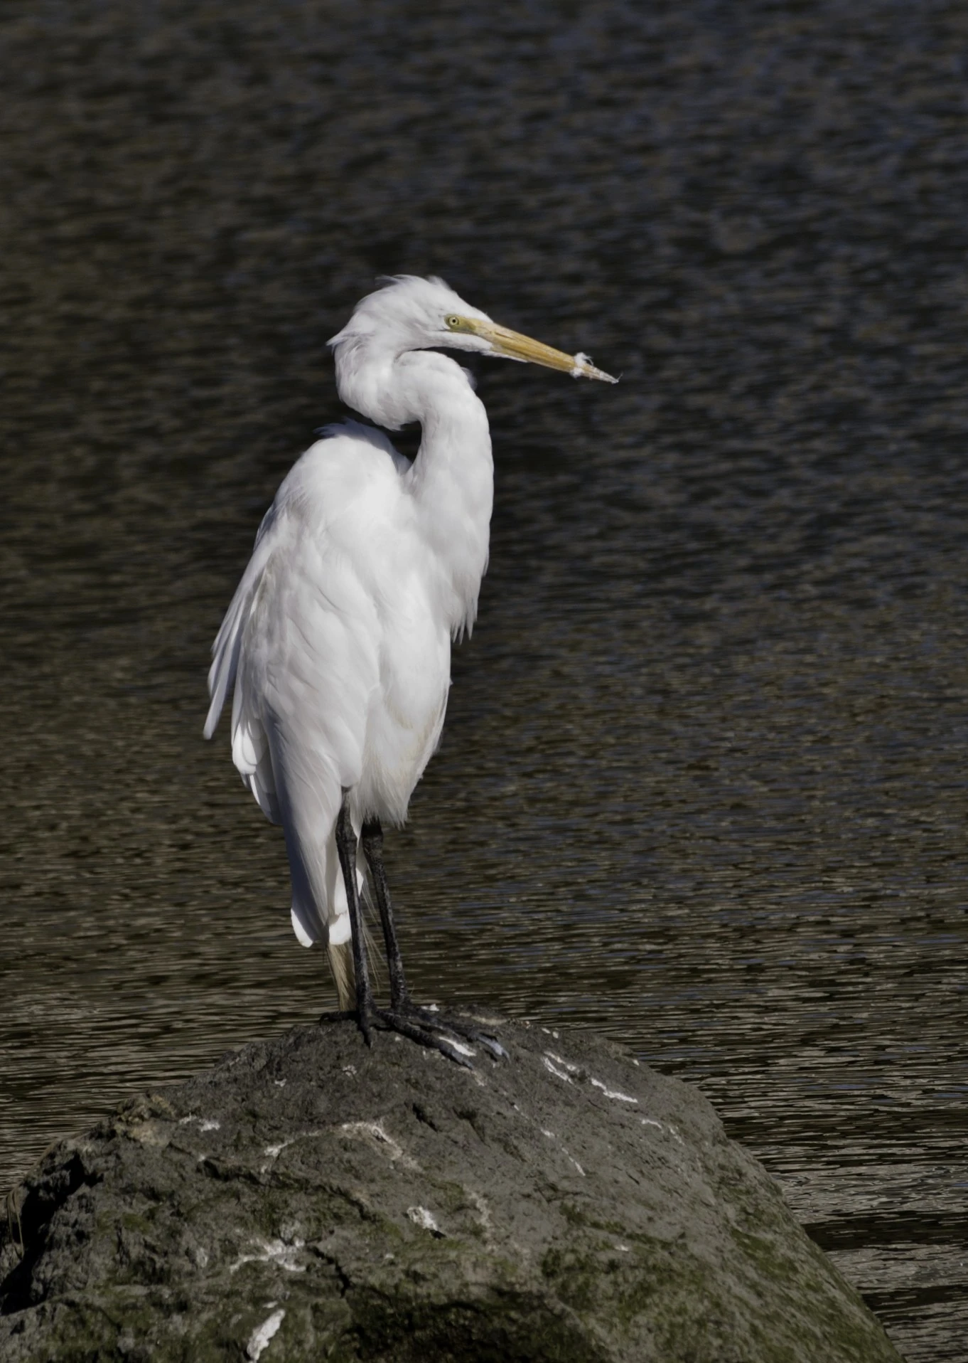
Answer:
[[[206,737],[234,686],[233,761],[263,812],[283,823],[280,767],[297,785],[309,781],[308,767],[342,786],[359,778],[380,676],[373,556],[407,466],[369,427],[347,423],[328,435],[294,465],[265,514],[208,673]]]

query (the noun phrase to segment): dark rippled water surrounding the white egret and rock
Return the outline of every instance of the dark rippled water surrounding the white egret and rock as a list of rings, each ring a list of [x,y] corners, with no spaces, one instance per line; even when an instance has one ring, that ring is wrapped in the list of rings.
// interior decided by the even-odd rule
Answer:
[[[325,338],[441,273],[622,383],[479,365],[414,984],[700,1082],[967,1359],[968,11],[31,0],[0,50],[0,1183],[329,1005],[208,645]]]

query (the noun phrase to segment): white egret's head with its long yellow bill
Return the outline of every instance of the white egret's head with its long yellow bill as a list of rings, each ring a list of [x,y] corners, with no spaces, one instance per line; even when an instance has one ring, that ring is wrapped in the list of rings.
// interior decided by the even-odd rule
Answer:
[[[413,274],[396,275],[383,289],[361,298],[329,345],[336,348],[354,342],[378,346],[393,354],[429,349],[472,350],[524,364],[542,364],[575,379],[618,382],[596,369],[584,354],[566,354],[491,322],[486,312],[464,303],[436,275],[429,279]]]

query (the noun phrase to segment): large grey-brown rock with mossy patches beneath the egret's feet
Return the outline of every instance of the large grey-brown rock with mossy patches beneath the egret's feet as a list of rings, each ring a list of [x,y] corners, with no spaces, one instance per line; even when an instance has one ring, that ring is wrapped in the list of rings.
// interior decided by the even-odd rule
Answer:
[[[897,1363],[700,1093],[500,1035],[471,1071],[300,1029],[61,1142],[0,1227],[0,1358]]]

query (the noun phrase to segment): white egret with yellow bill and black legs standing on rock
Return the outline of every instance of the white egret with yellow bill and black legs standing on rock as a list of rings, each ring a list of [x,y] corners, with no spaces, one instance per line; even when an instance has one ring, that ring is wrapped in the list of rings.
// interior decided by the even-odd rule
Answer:
[[[415,1007],[383,867],[383,821],[400,825],[440,739],[451,641],[470,632],[487,567],[493,462],[474,383],[440,353],[531,361],[615,380],[583,356],[509,331],[442,279],[402,275],[362,298],[329,342],[336,388],[398,431],[419,421],[413,461],[358,421],[327,427],[282,483],[212,646],[206,737],[234,687],[231,756],[282,823],[293,928],[328,949],[340,1009],[463,1062],[448,1036],[493,1037]],[[391,1007],[366,970],[362,842],[383,924]]]

